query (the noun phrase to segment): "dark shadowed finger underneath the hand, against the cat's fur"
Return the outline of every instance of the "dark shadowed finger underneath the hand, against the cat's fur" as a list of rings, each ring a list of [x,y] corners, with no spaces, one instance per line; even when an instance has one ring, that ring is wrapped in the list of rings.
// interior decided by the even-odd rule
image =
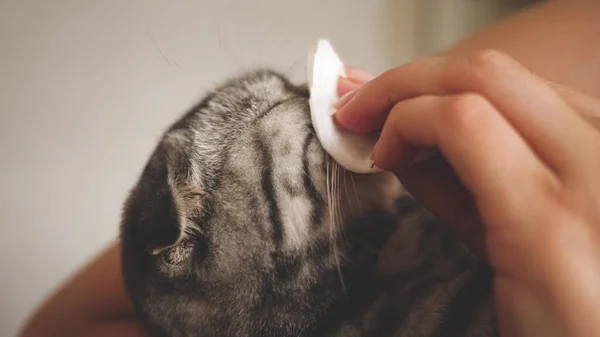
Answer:
[[[484,255],[481,218],[471,194],[440,156],[396,172],[411,195],[447,224],[471,251]]]

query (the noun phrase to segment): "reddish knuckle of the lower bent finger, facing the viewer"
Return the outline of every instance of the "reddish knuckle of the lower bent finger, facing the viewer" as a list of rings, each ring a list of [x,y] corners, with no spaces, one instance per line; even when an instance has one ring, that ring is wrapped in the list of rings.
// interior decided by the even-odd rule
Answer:
[[[447,102],[444,116],[444,127],[465,131],[477,127],[482,118],[482,112],[488,103],[483,96],[475,93],[465,93],[450,98]]]

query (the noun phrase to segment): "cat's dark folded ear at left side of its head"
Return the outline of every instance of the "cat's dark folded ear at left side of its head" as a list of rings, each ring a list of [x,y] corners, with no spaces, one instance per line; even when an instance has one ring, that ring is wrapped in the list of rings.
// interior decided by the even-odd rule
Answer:
[[[150,254],[184,239],[188,216],[200,206],[199,188],[190,186],[184,143],[167,136],[148,161],[125,205],[122,231]],[[187,228],[189,229],[189,228]]]

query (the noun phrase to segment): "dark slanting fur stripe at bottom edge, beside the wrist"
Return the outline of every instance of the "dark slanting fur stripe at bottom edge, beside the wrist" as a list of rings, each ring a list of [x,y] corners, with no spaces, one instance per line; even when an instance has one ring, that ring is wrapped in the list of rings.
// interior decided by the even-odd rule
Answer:
[[[479,265],[448,305],[444,322],[431,337],[464,336],[479,308],[488,299],[486,296],[490,294],[492,279],[491,269],[483,263]]]

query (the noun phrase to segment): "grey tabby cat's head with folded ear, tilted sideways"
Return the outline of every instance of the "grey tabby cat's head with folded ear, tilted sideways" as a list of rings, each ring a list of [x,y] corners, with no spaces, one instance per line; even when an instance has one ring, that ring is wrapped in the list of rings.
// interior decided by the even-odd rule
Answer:
[[[340,233],[392,212],[387,173],[325,153],[306,89],[271,71],[226,82],[163,135],[123,211],[123,271],[169,335],[297,335],[343,294]]]

